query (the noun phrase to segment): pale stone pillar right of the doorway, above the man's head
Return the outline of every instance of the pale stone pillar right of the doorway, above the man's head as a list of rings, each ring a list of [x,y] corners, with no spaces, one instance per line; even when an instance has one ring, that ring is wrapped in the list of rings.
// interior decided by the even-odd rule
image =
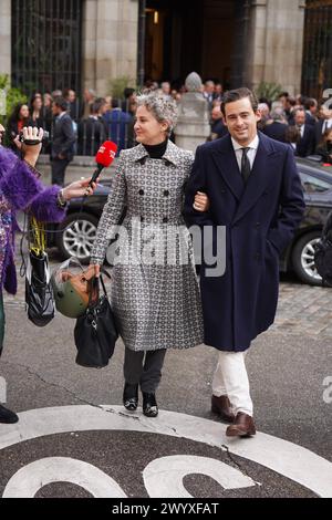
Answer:
[[[279,83],[300,92],[304,0],[253,0],[248,41],[246,83]]]

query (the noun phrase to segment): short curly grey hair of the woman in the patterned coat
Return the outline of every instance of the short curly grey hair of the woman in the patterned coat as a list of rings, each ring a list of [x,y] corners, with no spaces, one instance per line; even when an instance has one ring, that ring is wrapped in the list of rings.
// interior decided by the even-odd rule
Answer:
[[[137,96],[137,106],[146,106],[159,123],[168,123],[167,135],[170,135],[177,123],[176,102],[164,94],[143,92]]]

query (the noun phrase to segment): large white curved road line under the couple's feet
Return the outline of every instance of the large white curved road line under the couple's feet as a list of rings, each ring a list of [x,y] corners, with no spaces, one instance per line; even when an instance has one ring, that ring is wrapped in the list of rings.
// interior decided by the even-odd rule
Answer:
[[[248,439],[225,436],[226,425],[176,412],[160,410],[149,419],[122,406],[89,405],[38,408],[19,414],[14,425],[0,425],[0,449],[46,435],[97,429],[145,431],[183,437],[221,448],[252,460],[304,486],[320,497],[332,497],[332,462],[307,448],[258,431]]]

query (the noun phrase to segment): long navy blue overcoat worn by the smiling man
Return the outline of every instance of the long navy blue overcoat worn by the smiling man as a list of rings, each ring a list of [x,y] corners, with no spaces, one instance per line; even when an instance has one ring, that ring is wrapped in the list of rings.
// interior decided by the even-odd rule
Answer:
[[[193,209],[205,191],[210,209]],[[274,320],[279,254],[291,240],[304,210],[300,177],[289,145],[259,133],[259,147],[245,185],[230,136],[197,148],[187,184],[188,226],[226,227],[226,271],[200,288],[205,343],[220,351],[245,351]],[[215,233],[216,235],[216,233]],[[216,246],[216,245],[215,245]]]

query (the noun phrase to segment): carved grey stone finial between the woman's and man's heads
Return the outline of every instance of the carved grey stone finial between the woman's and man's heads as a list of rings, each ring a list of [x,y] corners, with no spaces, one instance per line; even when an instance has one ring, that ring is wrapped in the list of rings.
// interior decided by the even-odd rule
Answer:
[[[178,122],[175,127],[177,146],[196,150],[210,135],[208,104],[201,93],[201,80],[191,72],[186,80],[187,93],[183,94],[178,104]]]

